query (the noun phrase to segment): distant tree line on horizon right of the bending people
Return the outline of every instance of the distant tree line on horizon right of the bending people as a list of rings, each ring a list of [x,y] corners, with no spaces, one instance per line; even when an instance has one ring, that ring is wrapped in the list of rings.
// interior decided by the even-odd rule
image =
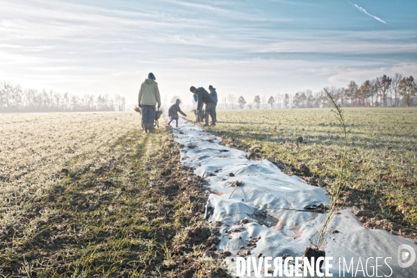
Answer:
[[[343,107],[398,107],[417,105],[417,85],[413,76],[402,74],[380,76],[366,80],[361,85],[350,81],[345,88],[336,86],[326,87],[318,92],[311,90],[299,91],[295,94],[278,94],[270,97],[259,95],[252,102],[247,102],[243,96],[233,94],[222,98],[220,108],[223,109],[252,109],[252,108],[325,108],[333,103],[327,93],[333,97],[336,104]]]

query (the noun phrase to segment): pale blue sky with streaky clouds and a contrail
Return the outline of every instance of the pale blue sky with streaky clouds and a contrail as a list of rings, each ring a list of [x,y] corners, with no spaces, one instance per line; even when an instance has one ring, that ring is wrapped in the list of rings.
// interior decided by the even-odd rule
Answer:
[[[191,85],[228,94],[320,90],[417,76],[417,1],[0,0],[0,82],[137,103]]]

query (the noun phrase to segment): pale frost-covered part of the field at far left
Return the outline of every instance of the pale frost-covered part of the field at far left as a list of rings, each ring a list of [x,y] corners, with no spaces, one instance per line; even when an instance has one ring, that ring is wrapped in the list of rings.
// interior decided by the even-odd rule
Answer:
[[[133,113],[29,113],[0,117],[0,230],[19,223],[60,174],[105,170],[116,156],[108,145],[137,126]],[[36,203],[34,203],[35,205]],[[41,208],[36,208],[41,209]],[[44,209],[44,208],[42,208]],[[45,213],[53,213],[46,208]]]

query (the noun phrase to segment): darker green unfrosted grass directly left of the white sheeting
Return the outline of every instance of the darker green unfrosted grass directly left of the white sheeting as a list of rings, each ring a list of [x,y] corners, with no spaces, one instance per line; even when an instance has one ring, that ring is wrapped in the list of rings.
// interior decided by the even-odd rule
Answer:
[[[0,277],[227,277],[202,260],[217,230],[204,221],[204,181],[181,165],[169,129],[130,129],[100,149],[88,151],[95,167],[79,167],[79,154],[19,195],[16,218],[2,219],[14,224],[0,234]]]

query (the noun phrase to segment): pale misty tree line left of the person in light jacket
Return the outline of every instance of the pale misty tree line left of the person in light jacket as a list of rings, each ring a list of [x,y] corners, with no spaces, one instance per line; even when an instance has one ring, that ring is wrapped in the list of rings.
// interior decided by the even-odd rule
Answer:
[[[0,112],[86,112],[86,111],[124,111],[124,97],[107,94],[70,95],[53,90],[47,92],[22,89],[20,85],[0,83]]]

